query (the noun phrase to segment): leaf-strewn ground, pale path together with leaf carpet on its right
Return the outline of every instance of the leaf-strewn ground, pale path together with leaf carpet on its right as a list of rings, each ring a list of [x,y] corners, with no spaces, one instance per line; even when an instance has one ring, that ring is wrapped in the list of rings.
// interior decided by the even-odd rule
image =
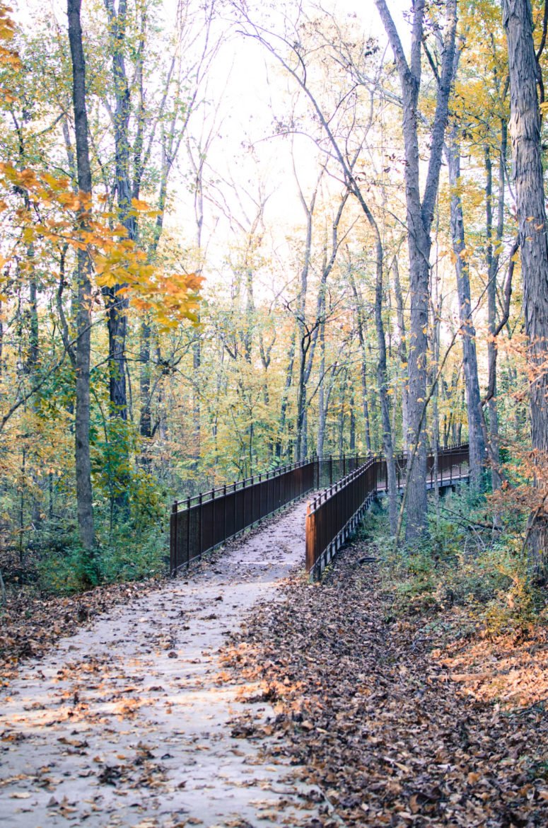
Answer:
[[[364,542],[310,585],[304,513],[109,594],[71,638],[46,647],[26,619],[36,643],[0,695],[2,828],[548,824],[546,630],[396,615]]]

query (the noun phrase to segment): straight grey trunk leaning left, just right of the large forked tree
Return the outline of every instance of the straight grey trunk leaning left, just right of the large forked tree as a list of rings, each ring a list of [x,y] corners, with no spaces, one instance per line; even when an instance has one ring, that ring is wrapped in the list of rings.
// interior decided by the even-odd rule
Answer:
[[[470,451],[470,483],[474,489],[481,489],[483,467],[485,464],[485,441],[481,419],[481,397],[478,381],[478,358],[476,354],[476,329],[473,326],[470,299],[470,278],[468,263],[464,259],[466,244],[464,242],[464,214],[459,194],[460,185],[460,151],[457,127],[451,129],[445,157],[449,167],[449,185],[451,187],[451,238],[453,242],[454,267],[457,276],[459,294],[459,319],[463,340],[464,388],[468,410],[468,433]]]

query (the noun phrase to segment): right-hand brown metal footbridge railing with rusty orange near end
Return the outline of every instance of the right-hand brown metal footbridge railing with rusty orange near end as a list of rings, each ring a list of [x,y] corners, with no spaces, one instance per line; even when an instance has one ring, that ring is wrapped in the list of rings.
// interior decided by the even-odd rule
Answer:
[[[437,478],[435,457],[427,459],[427,483],[447,486],[468,478],[469,446],[455,445],[438,452]],[[406,479],[405,455],[396,458],[397,486]],[[306,514],[306,571],[321,575],[340,546],[361,521],[363,513],[377,493],[387,491],[387,463],[382,457],[367,460],[343,479],[314,498]]]

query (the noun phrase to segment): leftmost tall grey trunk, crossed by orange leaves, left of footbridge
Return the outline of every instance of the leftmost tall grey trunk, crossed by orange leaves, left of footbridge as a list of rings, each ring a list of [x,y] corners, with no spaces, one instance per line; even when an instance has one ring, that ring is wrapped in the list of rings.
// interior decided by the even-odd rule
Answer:
[[[68,0],[70,56],[72,60],[72,99],[75,109],[76,163],[78,186],[84,194],[79,226],[87,228],[91,210],[91,169],[89,166],[88,115],[85,103],[85,60],[80,23],[81,0]],[[94,547],[94,512],[89,457],[89,352],[91,339],[91,261],[85,250],[78,251],[77,341],[75,347],[76,416],[75,465],[76,501],[80,542]]]

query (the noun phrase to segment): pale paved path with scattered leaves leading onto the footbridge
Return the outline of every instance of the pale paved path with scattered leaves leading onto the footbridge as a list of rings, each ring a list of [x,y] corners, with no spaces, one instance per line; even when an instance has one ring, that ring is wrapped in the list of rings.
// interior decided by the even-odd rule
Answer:
[[[310,822],[290,769],[233,738],[252,686],[224,683],[219,662],[227,633],[303,565],[304,516],[299,503],[22,668],[0,695],[2,828]]]

